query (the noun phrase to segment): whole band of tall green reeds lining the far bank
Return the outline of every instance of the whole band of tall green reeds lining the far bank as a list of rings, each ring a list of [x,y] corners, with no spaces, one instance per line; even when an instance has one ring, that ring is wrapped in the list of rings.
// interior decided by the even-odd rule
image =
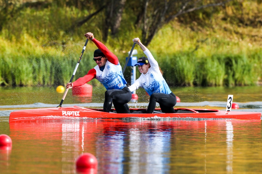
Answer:
[[[71,54],[51,48],[40,52],[32,47],[29,49],[31,51],[22,46],[19,52],[11,52],[9,49],[1,51],[2,85],[65,85],[71,78],[81,52],[81,47],[78,47],[78,53],[74,51]],[[74,80],[87,74],[96,65],[92,61],[93,50],[92,45],[84,53]],[[153,54],[164,71],[164,78],[171,86],[246,86],[255,85],[261,78],[261,70],[258,69],[262,65],[260,53],[213,54],[211,57],[198,57],[192,52],[161,54],[161,57]],[[123,54],[118,56],[122,65],[123,57]],[[137,77],[139,76],[138,72]]]

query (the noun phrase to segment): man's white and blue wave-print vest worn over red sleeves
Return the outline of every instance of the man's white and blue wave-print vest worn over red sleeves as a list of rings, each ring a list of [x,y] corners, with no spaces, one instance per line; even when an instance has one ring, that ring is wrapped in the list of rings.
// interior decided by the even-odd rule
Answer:
[[[122,67],[118,63],[114,65],[110,61],[105,64],[105,69],[101,71],[99,66],[94,67],[96,71],[96,79],[101,82],[107,90],[123,89],[126,86],[126,80],[122,73]]]

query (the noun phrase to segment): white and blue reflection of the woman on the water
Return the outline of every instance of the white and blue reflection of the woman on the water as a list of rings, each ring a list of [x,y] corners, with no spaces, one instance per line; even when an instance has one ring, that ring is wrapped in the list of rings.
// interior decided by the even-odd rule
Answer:
[[[168,173],[171,132],[130,130],[129,173]],[[143,165],[145,164],[145,165]]]

